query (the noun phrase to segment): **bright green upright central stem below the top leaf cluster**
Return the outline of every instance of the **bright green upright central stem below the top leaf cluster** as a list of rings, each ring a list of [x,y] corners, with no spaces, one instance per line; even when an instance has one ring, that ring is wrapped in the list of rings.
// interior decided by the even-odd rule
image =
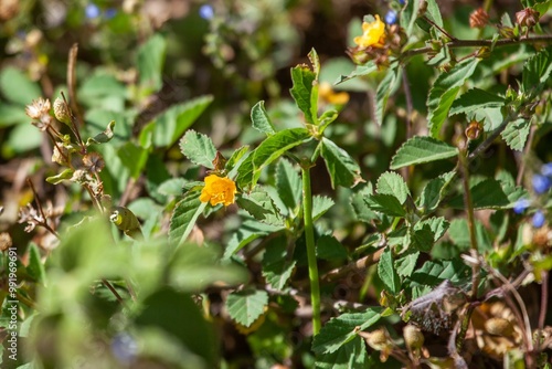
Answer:
[[[307,161],[307,160],[305,160]],[[310,280],[310,303],[312,305],[312,335],[320,331],[320,282],[315,249],[315,230],[312,226],[312,193],[310,189],[310,162],[302,162],[302,219],[305,222],[305,240]]]

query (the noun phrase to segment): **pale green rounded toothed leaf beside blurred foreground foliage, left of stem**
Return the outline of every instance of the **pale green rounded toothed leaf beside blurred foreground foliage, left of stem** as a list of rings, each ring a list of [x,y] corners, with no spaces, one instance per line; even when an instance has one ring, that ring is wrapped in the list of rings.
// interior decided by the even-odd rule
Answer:
[[[231,293],[225,305],[232,319],[248,327],[263,315],[267,304],[266,291],[247,288]]]

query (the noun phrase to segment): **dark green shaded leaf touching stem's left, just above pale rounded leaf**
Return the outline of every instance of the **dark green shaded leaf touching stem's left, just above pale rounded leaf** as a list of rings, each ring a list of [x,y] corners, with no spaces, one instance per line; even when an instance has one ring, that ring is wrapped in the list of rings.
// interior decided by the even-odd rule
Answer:
[[[289,257],[287,239],[284,234],[267,242],[263,254],[263,276],[266,282],[278,291],[284,291],[291,277],[296,262]]]

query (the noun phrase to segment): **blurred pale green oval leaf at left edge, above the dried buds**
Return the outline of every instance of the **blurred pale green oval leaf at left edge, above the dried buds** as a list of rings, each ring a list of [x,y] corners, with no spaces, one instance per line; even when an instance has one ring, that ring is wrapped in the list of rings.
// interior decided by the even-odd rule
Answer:
[[[42,96],[39,85],[12,66],[0,72],[0,92],[7,101],[19,105],[30,105],[33,99]]]

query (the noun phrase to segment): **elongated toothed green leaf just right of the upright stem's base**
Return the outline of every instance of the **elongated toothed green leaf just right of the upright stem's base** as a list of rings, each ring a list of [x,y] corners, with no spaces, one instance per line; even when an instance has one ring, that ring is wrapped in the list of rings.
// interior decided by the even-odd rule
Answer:
[[[358,337],[358,327],[364,330],[380,320],[381,307],[371,307],[364,313],[346,313],[331,318],[312,340],[316,354],[336,352],[341,346]]]

